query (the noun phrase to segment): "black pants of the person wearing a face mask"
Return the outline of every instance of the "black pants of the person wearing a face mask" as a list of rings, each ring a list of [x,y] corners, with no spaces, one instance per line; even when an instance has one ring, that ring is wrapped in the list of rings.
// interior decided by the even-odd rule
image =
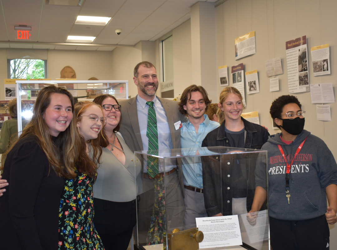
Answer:
[[[330,249],[330,231],[325,215],[301,221],[269,217],[269,224],[273,250]]]

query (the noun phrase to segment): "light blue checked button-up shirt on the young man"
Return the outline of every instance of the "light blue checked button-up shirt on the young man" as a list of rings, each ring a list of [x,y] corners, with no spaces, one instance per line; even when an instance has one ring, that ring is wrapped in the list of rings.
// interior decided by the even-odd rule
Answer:
[[[180,145],[183,155],[197,155],[197,148],[201,147],[206,135],[220,126],[218,122],[210,121],[206,114],[204,114],[204,118],[205,120],[199,124],[198,133],[195,132],[194,126],[189,120],[182,123]],[[182,158],[182,163],[184,185],[203,188],[201,158],[197,156]]]

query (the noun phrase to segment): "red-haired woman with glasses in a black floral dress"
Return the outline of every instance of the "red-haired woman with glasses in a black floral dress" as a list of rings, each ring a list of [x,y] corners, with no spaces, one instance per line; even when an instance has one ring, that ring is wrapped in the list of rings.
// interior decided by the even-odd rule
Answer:
[[[100,145],[108,145],[102,130],[106,118],[103,117],[101,107],[89,101],[76,103],[74,112],[76,128],[83,139],[82,150],[86,151],[92,161],[84,165],[81,164],[84,159],[79,158],[74,167],[75,178],[65,180],[59,210],[59,250],[103,250],[102,241],[93,224],[92,187],[102,153]]]

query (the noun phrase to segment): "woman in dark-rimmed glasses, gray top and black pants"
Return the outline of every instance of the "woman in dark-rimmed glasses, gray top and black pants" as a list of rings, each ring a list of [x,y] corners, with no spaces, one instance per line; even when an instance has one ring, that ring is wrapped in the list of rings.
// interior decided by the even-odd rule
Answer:
[[[109,140],[97,169],[94,224],[106,250],[126,250],[137,222],[135,179],[140,177],[141,163],[117,133],[122,117],[116,98],[104,94],[94,103],[102,107],[107,119],[104,132]]]

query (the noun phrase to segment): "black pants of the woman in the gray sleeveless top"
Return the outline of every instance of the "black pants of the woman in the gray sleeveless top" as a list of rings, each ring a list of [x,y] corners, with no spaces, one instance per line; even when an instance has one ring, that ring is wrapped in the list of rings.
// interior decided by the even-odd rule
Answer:
[[[94,198],[94,226],[105,250],[126,250],[137,222],[136,200],[115,202]]]

